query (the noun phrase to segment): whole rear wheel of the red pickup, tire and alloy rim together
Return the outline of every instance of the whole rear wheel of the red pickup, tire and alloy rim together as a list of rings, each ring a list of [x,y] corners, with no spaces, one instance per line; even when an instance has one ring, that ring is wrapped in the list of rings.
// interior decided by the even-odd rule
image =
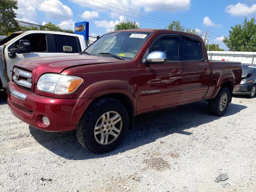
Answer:
[[[222,116],[226,113],[230,101],[229,89],[222,88],[214,99],[209,100],[208,108],[210,114],[216,116]]]

